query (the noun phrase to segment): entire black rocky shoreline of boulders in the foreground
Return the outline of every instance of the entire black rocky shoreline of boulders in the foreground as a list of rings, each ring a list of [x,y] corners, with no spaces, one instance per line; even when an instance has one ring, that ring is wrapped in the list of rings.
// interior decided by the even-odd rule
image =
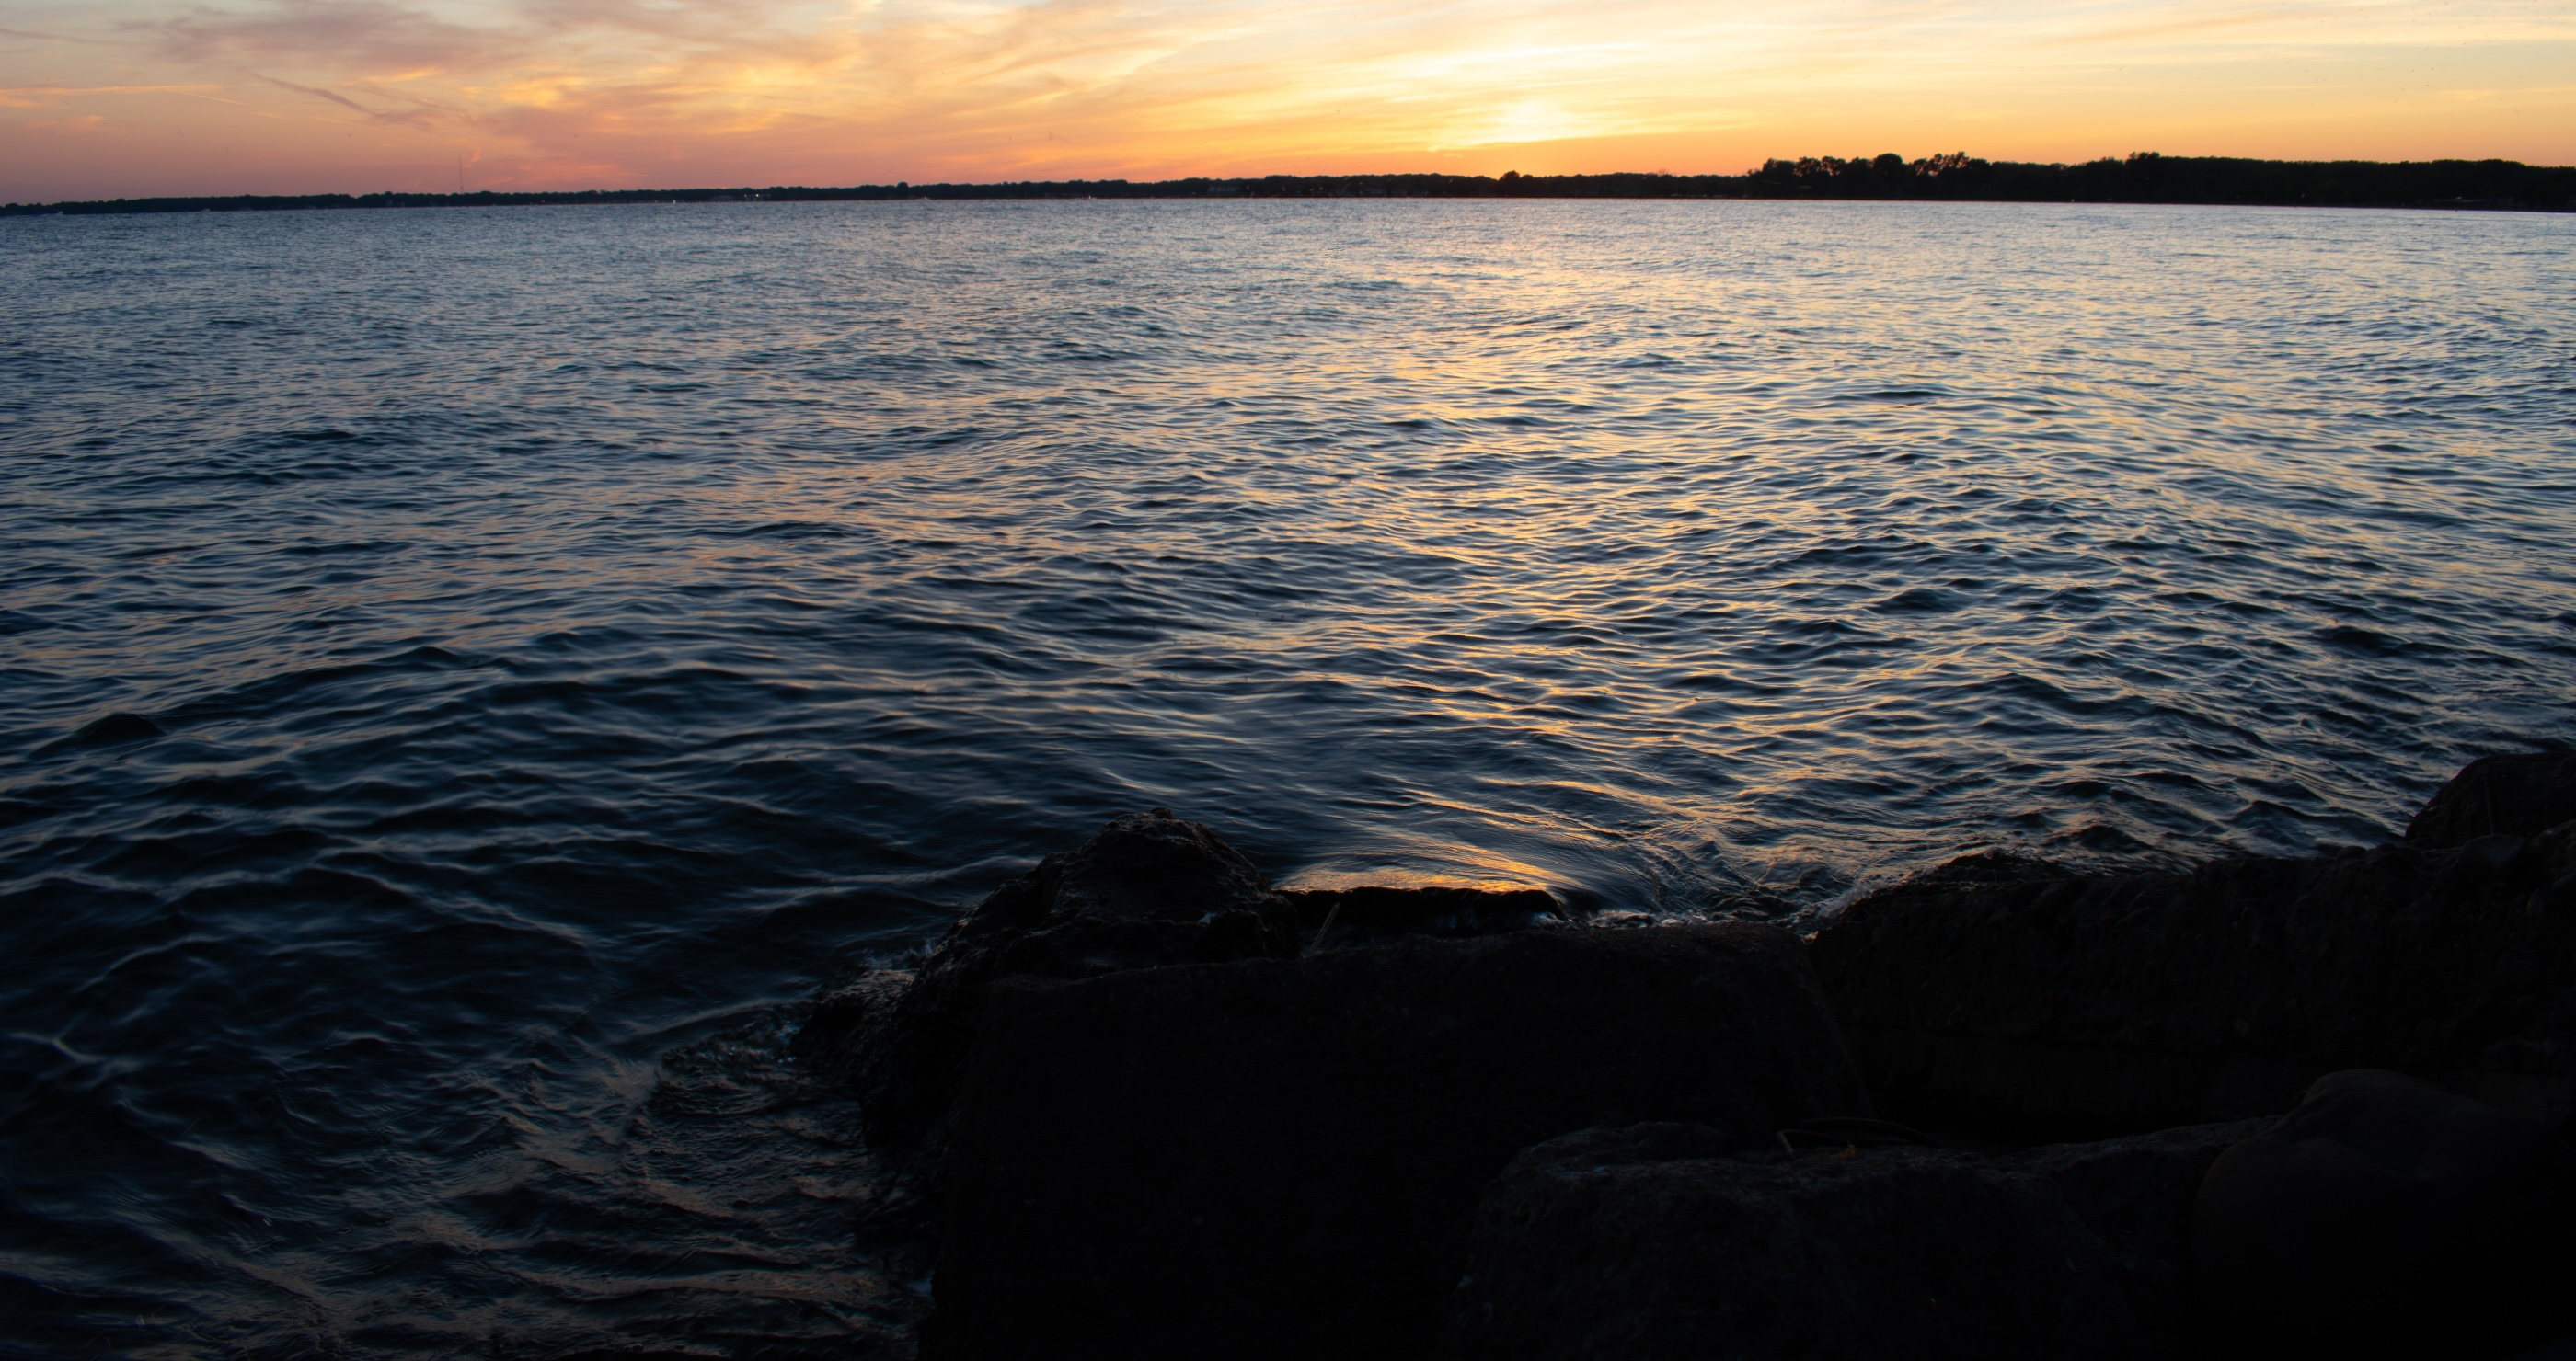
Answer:
[[[799,1050],[914,1168],[930,1361],[2576,1356],[2568,754],[1808,939],[1278,893],[1157,808]]]

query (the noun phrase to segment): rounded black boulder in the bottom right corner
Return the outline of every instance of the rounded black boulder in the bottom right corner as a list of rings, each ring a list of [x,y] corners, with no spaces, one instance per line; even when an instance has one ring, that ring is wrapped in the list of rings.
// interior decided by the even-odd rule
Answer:
[[[2512,1356],[2576,1330],[2576,1153],[2398,1073],[2334,1073],[2192,1222],[2218,1356]]]

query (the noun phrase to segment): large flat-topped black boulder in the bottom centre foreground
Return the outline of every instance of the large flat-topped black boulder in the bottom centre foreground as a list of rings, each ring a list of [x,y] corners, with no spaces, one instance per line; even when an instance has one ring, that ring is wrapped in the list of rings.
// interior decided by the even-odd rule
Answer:
[[[1795,936],[1409,939],[994,983],[933,1358],[1417,1358],[1484,1183],[1602,1122],[1865,1114]]]

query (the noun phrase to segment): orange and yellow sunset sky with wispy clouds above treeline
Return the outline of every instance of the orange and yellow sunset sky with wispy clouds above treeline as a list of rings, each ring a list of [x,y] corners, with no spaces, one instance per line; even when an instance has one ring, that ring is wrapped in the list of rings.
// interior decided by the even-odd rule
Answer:
[[[0,0],[0,198],[2576,162],[2576,0]]]

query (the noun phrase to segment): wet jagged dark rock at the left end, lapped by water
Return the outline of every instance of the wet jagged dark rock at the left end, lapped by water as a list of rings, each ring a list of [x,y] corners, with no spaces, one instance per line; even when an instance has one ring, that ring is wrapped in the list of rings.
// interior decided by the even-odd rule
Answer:
[[[917,975],[878,973],[817,1003],[801,1052],[860,1093],[881,1145],[922,1142],[997,978],[1092,978],[1157,965],[1293,957],[1296,908],[1216,831],[1157,808],[997,888]]]

